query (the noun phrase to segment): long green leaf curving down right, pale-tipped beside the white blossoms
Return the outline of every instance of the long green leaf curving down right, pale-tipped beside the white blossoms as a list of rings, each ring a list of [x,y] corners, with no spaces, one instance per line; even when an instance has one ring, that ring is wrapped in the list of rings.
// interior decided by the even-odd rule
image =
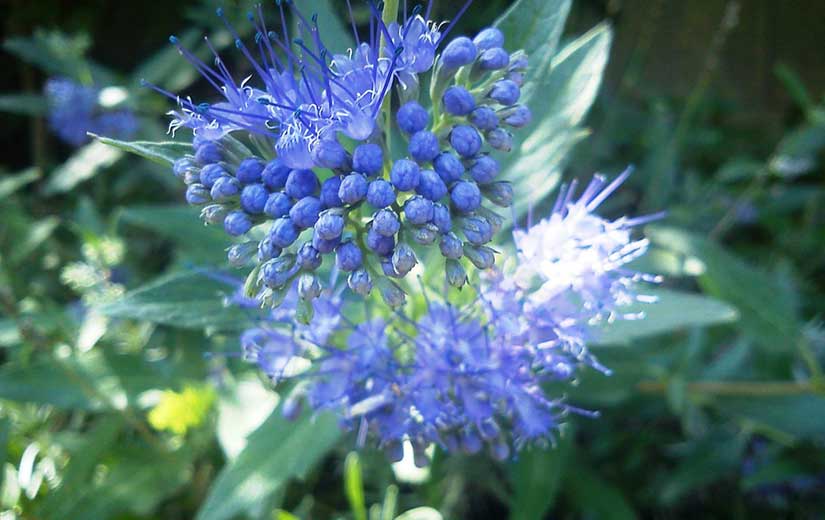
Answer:
[[[797,302],[786,284],[702,236],[662,226],[651,226],[646,233],[653,243],[698,265],[704,291],[736,307],[742,330],[751,339],[767,349],[794,348]]]

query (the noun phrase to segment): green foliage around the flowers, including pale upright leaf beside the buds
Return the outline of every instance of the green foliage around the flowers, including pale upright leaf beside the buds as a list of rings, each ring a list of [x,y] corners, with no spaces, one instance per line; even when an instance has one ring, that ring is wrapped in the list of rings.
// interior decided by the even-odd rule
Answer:
[[[211,3],[200,4],[188,16],[216,48],[231,46]],[[452,5],[436,4],[454,14]],[[352,44],[342,3],[301,7],[319,14],[331,48]],[[354,7],[363,22],[364,6]],[[661,287],[643,291],[658,303],[624,309],[646,319],[594,331],[593,351],[612,375],[588,371],[573,386],[551,389],[600,417],[571,413],[554,446],[532,447],[506,463],[447,457],[436,448],[432,466],[415,482],[405,480],[416,471],[410,461],[392,468],[382,453],[354,451],[357,432],[342,433],[329,415],[287,421],[277,404],[292,389],[273,388],[234,357],[238,331],[258,311],[226,304],[243,282],[222,270],[232,240],[179,205],[180,186],[168,170],[190,152],[185,140],[155,140],[170,138],[159,120],[147,118],[140,135],[149,140],[94,136],[69,153],[34,125],[30,137],[15,135],[14,146],[35,150],[35,166],[4,167],[0,178],[4,515],[821,515],[825,104],[780,65],[778,79],[797,104],[786,119],[792,124],[781,135],[761,125],[744,134],[725,123],[727,110],[744,113],[736,100],[731,109],[730,99],[717,99],[705,85],[685,99],[651,85],[636,85],[632,99],[621,90],[600,93],[613,30],[603,23],[565,35],[571,9],[577,26],[587,19],[580,3],[502,0],[483,7],[474,6],[461,25],[482,27],[490,19],[477,13],[503,13],[495,23],[508,45],[531,55],[523,95],[534,119],[503,162],[520,220],[530,208],[541,214],[562,178],[628,163],[640,168],[626,198],[605,210],[669,212],[644,230],[652,251],[636,266],[664,275]],[[178,10],[170,15],[180,16]],[[208,60],[204,31],[179,37]],[[140,79],[180,91],[199,77],[161,40],[160,50],[130,73],[109,70],[89,52],[112,42],[92,45],[92,36],[98,35],[38,30],[8,38],[4,49],[46,76],[125,84],[141,114],[167,105],[139,89]],[[630,77],[614,80],[633,86]],[[596,111],[588,119],[591,105]],[[40,89],[29,88],[0,95],[0,111],[23,120],[43,117],[47,107]],[[585,125],[595,135],[577,146],[590,132]],[[216,398],[207,392],[194,401],[174,399],[188,388],[214,388]],[[187,403],[198,408],[189,410],[197,420],[176,413]]]

